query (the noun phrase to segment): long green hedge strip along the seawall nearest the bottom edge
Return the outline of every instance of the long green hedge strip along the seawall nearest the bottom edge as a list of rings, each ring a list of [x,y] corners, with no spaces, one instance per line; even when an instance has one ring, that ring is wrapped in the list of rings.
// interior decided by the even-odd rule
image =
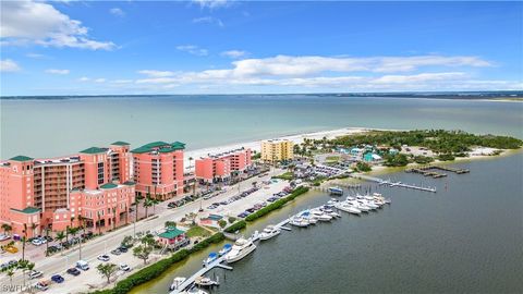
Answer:
[[[203,250],[207,248],[210,244],[219,243],[224,240],[222,233],[216,233],[212,236],[205,238],[198,244],[194,245],[191,249],[181,249],[171,255],[168,258],[161,259],[150,266],[141,269],[139,271],[129,275],[124,280],[117,283],[113,289],[108,289],[104,291],[96,291],[98,294],[124,294],[129,293],[133,287],[141,285],[143,283],[149,282],[158,277],[160,277],[165,271],[177,262],[187,258],[191,254]]]

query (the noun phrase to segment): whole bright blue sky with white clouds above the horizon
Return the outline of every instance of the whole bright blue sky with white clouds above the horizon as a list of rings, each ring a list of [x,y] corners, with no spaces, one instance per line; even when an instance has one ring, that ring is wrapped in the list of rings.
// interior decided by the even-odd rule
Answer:
[[[2,96],[523,89],[521,2],[1,5]]]

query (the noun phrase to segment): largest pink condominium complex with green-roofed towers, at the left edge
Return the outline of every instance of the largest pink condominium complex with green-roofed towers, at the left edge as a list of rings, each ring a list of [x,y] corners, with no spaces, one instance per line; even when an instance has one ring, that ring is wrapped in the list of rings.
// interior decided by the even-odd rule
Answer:
[[[0,223],[32,237],[47,228],[114,226],[134,203],[129,144],[61,158],[16,156],[0,163]]]

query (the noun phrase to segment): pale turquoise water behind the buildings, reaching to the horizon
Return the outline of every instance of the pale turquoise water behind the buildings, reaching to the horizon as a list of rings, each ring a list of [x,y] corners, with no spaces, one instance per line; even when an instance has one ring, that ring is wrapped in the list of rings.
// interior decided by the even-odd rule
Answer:
[[[144,96],[0,100],[0,158],[114,140],[188,149],[349,126],[461,128],[523,138],[523,103],[336,96]]]

